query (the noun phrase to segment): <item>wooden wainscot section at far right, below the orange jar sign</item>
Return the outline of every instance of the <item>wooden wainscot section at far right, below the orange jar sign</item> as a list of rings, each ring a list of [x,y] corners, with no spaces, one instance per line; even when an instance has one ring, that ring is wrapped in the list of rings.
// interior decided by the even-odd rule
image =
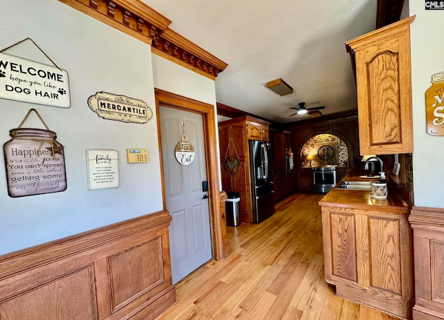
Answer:
[[[413,207],[414,320],[444,319],[444,208]]]

